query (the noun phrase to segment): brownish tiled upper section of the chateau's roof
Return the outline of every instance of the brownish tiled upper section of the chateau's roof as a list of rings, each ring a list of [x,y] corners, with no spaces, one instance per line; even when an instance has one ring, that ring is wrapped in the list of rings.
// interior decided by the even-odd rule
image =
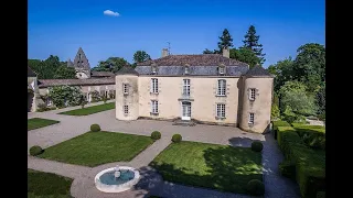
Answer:
[[[151,59],[142,63],[138,63],[137,66],[150,66],[152,64],[157,66],[218,66],[224,64],[225,66],[247,66],[248,64],[227,58],[221,54],[197,54],[197,55],[169,55],[158,59]]]

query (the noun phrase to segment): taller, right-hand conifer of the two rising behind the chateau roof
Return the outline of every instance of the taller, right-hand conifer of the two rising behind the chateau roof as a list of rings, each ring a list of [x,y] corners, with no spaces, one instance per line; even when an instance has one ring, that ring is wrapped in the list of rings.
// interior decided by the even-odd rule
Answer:
[[[258,43],[260,38],[259,35],[256,35],[256,29],[254,25],[250,25],[248,31],[245,34],[245,40],[243,40],[244,47],[250,48],[256,56],[260,59],[259,64],[264,64],[266,62],[265,55],[263,54],[263,45]]]

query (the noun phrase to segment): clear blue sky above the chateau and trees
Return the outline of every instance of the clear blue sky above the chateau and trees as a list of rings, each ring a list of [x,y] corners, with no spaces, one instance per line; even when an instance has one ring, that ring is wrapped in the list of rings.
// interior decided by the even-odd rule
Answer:
[[[159,58],[167,42],[172,54],[201,54],[217,47],[224,29],[238,47],[250,24],[265,67],[325,40],[324,0],[29,0],[28,14],[29,58],[73,59],[82,46],[90,67],[110,56],[132,63],[139,50]]]

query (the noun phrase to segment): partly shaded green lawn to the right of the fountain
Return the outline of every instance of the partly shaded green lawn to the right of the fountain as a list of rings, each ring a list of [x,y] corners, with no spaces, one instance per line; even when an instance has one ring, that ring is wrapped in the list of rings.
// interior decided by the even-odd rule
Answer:
[[[261,153],[249,147],[172,143],[150,165],[169,182],[237,194],[250,179],[263,180]]]

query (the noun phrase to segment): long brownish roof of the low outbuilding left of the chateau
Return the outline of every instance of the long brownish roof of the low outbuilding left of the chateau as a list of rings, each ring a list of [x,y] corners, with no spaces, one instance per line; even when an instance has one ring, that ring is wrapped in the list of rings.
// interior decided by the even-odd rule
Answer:
[[[87,79],[40,79],[39,88],[52,86],[89,86],[89,85],[114,85],[115,78],[87,78]]]

